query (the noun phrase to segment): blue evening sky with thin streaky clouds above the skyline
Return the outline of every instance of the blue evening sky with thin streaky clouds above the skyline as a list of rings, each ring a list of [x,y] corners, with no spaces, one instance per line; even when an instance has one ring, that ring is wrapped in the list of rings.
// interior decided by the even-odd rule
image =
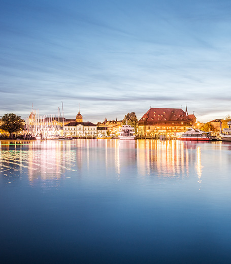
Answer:
[[[229,0],[2,0],[0,116],[231,115]]]

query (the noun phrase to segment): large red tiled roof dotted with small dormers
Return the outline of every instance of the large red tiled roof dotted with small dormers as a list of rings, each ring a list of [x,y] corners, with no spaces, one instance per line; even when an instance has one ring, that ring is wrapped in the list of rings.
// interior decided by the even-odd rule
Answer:
[[[150,108],[139,122],[190,121],[194,115],[187,115],[181,108]]]

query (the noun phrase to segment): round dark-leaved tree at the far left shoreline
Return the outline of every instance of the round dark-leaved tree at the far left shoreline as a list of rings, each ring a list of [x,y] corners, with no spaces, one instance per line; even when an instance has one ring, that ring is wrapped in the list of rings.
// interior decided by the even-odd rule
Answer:
[[[0,129],[10,133],[11,138],[13,137],[13,133],[23,130],[23,127],[24,124],[21,116],[17,116],[13,113],[2,116],[2,124],[0,125]]]

